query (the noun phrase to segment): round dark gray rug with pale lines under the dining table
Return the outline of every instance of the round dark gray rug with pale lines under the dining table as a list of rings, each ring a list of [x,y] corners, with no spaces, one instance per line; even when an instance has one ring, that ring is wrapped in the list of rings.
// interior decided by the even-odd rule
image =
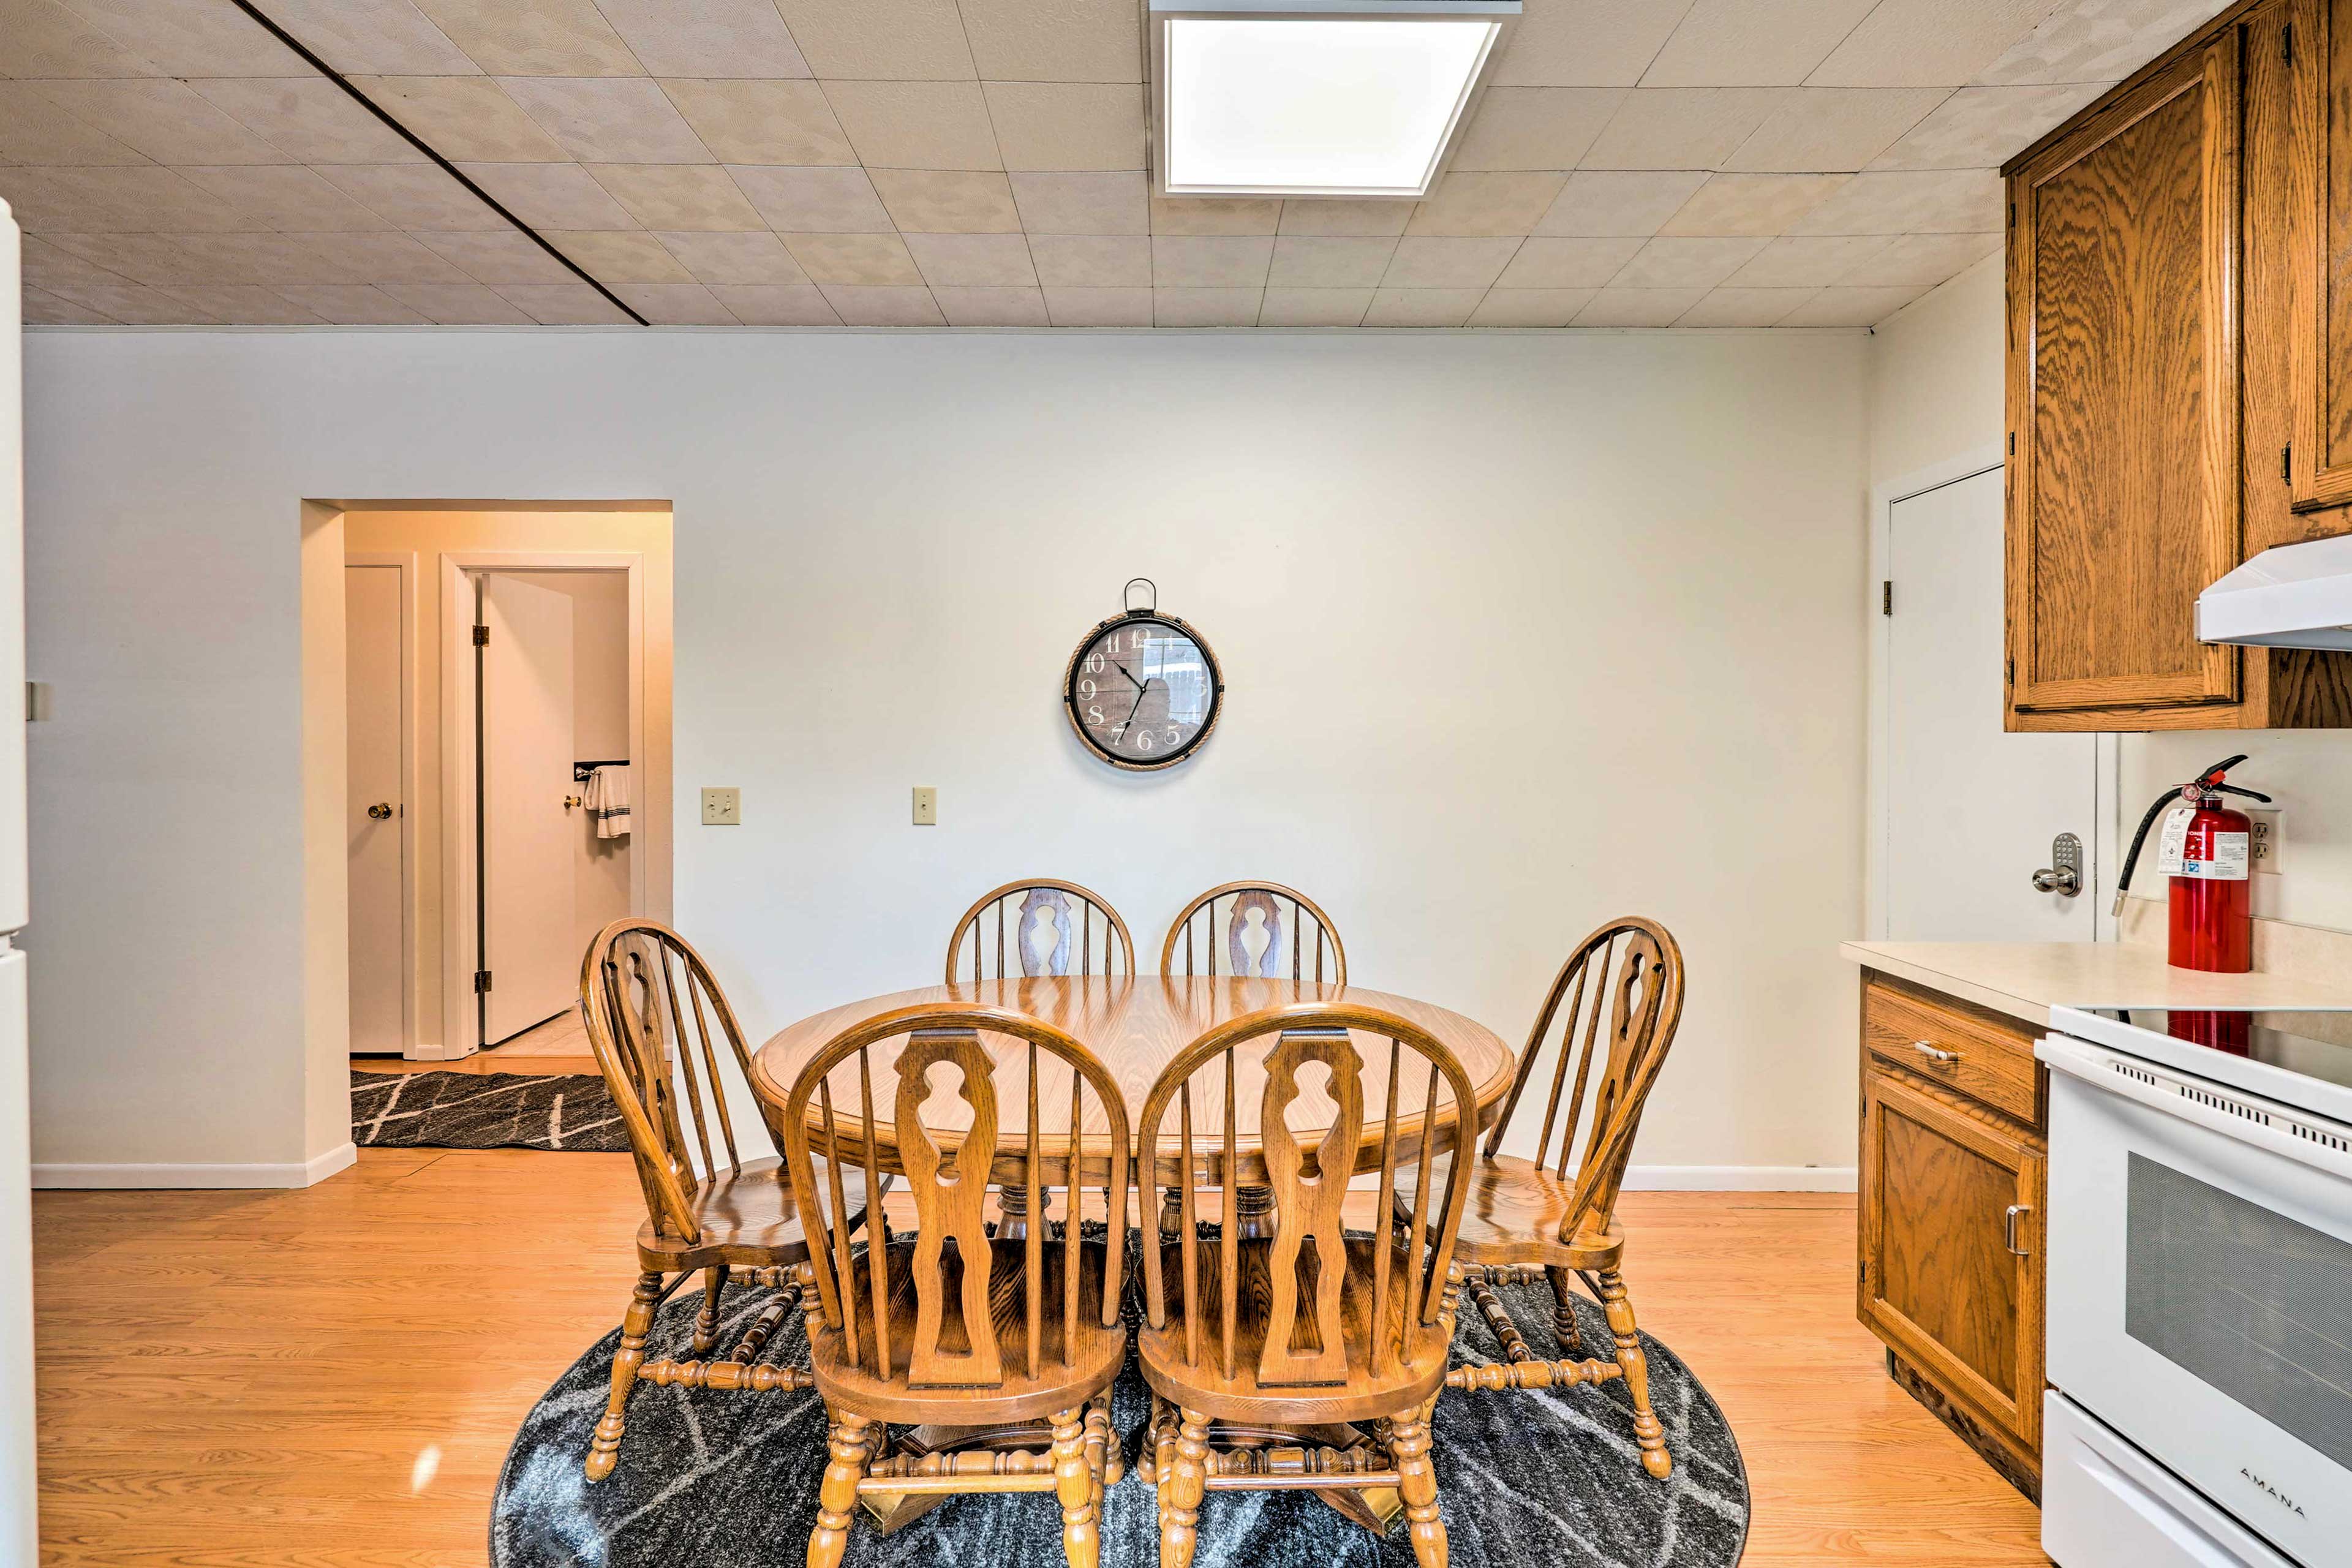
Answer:
[[[1559,1356],[1548,1286],[1503,1286],[1538,1356]],[[769,1291],[727,1291],[727,1335],[741,1335]],[[687,1356],[701,1291],[682,1288],[654,1324],[649,1354]],[[1609,1342],[1599,1307],[1578,1298],[1590,1345]],[[1454,1361],[1503,1352],[1463,1300]],[[572,1363],[522,1422],[492,1502],[496,1568],[781,1568],[804,1561],[826,1469],[826,1410],[816,1394],[717,1394],[637,1385],[621,1467],[595,1486],[581,1474],[604,1413],[619,1328]],[[1748,1472],[1722,1410],[1691,1368],[1656,1340],[1651,1401],[1665,1422],[1675,1476],[1651,1481],[1632,1441],[1623,1382],[1559,1392],[1465,1394],[1437,1401],[1435,1460],[1454,1568],[1729,1568],[1748,1540]],[[807,1366],[793,1314],[764,1361]],[[1152,1488],[1134,1474],[1150,1392],[1129,1359],[1112,1418],[1129,1474],[1103,1509],[1103,1561],[1160,1561]],[[1049,1493],[953,1497],[896,1535],[863,1514],[847,1568],[1061,1568],[1061,1507]],[[1402,1526],[1376,1537],[1303,1493],[1209,1493],[1200,1509],[1200,1568],[1409,1568]]]

